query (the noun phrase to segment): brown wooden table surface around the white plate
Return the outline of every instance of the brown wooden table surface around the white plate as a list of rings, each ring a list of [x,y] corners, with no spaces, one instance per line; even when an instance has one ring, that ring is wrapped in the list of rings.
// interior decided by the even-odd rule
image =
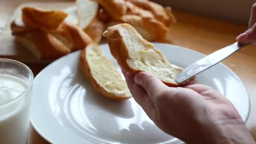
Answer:
[[[0,27],[3,27],[8,16],[12,14],[11,10],[14,10],[19,3],[5,0],[0,0],[0,2],[3,3],[0,5],[0,9],[8,8],[8,11],[0,12]],[[174,14],[178,22],[171,26],[170,33],[163,42],[180,45],[205,54],[210,54],[234,43],[235,37],[247,29],[246,26],[180,11],[174,11]],[[253,138],[256,139],[256,48],[249,45],[224,60],[223,63],[241,78],[248,89],[251,98],[251,113],[246,126]],[[27,66],[36,76],[47,64],[27,64]],[[48,142],[30,125],[28,144],[48,144]]]

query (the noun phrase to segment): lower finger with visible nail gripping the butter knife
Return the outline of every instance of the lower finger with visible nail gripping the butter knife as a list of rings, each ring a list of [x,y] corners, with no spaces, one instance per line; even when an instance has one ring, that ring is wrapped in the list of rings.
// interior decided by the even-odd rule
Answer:
[[[236,38],[239,43],[251,43],[256,40],[256,24]]]

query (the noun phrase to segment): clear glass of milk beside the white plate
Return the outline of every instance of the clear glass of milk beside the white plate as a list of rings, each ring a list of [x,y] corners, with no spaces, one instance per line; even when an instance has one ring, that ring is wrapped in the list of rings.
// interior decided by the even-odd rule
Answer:
[[[33,80],[25,64],[0,59],[0,144],[27,144]]]

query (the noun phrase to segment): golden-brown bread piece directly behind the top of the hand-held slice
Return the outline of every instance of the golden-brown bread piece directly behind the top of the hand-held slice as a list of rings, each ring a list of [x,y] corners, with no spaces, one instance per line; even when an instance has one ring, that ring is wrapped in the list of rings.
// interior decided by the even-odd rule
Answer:
[[[143,18],[137,15],[124,15],[120,21],[110,21],[107,27],[115,24],[128,23],[131,24],[142,37],[148,41],[163,40],[167,36],[169,29],[160,21],[150,18]]]

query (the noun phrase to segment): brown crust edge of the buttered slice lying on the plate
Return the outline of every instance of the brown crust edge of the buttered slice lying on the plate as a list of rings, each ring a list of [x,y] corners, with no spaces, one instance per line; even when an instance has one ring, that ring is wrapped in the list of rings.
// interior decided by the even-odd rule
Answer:
[[[87,47],[89,46],[96,46],[98,47],[99,45],[97,44],[90,44],[88,45]],[[87,48],[86,47],[86,48]],[[104,97],[107,97],[109,99],[112,99],[112,100],[117,100],[117,101],[123,101],[123,100],[126,100],[126,99],[129,99],[131,98],[131,96],[126,96],[126,95],[118,95],[116,93],[110,93],[108,91],[106,91],[103,87],[101,87],[101,84],[97,82],[97,80],[95,79],[95,77],[93,76],[93,74],[91,73],[91,68],[90,68],[90,65],[88,64],[88,61],[86,59],[86,48],[84,48],[81,53],[80,53],[80,57],[79,57],[79,67],[83,73],[83,75],[88,78],[89,80],[91,80],[91,83],[94,87],[94,89],[99,93],[101,94],[102,96]],[[103,56],[105,57],[105,56]],[[105,59],[107,61],[109,61],[109,64],[111,64],[111,67],[113,69],[115,69],[115,66],[112,65],[111,61],[109,59],[107,59],[107,57],[105,57]]]

